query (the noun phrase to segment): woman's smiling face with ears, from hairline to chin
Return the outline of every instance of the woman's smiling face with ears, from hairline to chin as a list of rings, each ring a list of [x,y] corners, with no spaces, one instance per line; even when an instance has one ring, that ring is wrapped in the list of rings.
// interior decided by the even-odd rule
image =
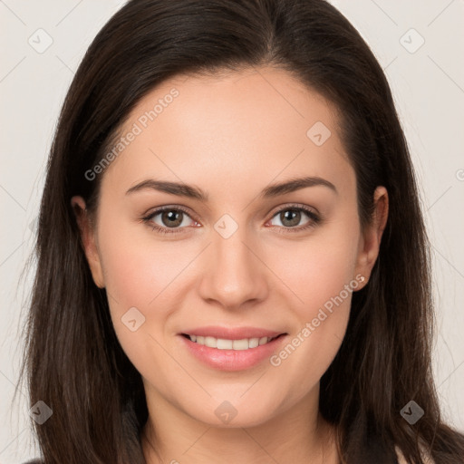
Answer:
[[[314,396],[386,220],[379,188],[380,219],[360,227],[333,106],[275,69],[178,76],[140,101],[121,134],[123,150],[97,174],[95,227],[80,220],[147,397],[208,424],[227,426],[221,412],[231,412],[234,426],[251,426]]]

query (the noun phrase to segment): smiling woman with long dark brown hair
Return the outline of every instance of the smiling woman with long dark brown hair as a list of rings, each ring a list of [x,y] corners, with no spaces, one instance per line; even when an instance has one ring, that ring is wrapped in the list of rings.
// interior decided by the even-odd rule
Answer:
[[[333,6],[130,1],[48,165],[43,462],[462,462],[428,250],[388,83]]]

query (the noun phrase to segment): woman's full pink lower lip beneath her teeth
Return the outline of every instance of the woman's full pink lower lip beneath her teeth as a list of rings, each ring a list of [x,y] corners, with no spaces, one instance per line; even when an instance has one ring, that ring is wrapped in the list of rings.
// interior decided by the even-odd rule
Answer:
[[[247,350],[218,350],[203,344],[192,342],[189,338],[179,335],[189,352],[198,360],[219,371],[243,371],[255,367],[257,364],[269,359],[286,335],[280,335],[273,341],[248,348]]]

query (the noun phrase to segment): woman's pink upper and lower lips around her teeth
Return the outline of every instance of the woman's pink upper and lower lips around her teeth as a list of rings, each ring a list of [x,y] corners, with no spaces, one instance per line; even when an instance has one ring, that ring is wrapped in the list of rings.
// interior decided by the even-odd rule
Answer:
[[[258,338],[260,335],[267,337],[281,335],[269,343],[256,346],[256,348],[248,348],[247,350],[218,350],[218,348],[210,348],[209,346],[192,342],[189,337],[185,337],[179,333],[178,337],[180,343],[183,343],[188,352],[198,361],[215,370],[227,372],[245,371],[268,360],[288,338],[286,333],[266,331],[251,327],[242,327],[240,329],[225,329],[223,327],[221,330],[218,330],[218,327],[204,327],[183,333],[214,336],[215,338],[227,338],[229,340]]]

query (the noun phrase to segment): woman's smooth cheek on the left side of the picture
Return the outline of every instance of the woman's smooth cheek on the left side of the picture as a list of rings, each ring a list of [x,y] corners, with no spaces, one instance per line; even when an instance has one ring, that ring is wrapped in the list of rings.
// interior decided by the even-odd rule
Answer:
[[[184,259],[178,248],[156,244],[150,239],[150,230],[140,234],[140,227],[102,225],[102,266],[111,320],[121,347],[142,376],[164,372],[157,380],[162,386],[175,372],[163,349],[166,321],[181,304],[176,285],[169,284],[188,264],[189,256]]]

